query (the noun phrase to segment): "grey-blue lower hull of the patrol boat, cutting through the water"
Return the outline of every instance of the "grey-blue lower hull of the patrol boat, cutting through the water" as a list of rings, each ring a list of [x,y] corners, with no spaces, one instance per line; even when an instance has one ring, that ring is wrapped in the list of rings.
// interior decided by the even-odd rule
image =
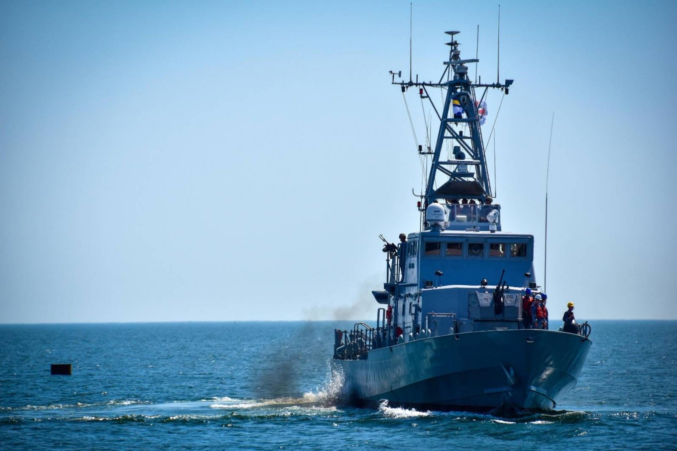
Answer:
[[[444,335],[333,360],[349,399],[441,410],[551,410],[571,390],[591,341],[552,330]]]

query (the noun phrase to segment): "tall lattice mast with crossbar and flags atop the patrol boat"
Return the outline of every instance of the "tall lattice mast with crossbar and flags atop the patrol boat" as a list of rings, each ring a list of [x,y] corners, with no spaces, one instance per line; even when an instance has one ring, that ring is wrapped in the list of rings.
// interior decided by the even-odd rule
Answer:
[[[452,41],[447,43],[450,46],[450,56],[449,60],[444,62],[446,68],[439,82],[419,83],[418,77],[416,82],[395,82],[397,73],[391,72],[392,83],[400,85],[402,91],[412,86],[418,87],[421,98],[429,99],[440,121],[435,150],[423,152],[419,149],[421,154],[432,155],[426,190],[421,196],[424,199],[423,209],[437,199],[477,199],[483,203],[485,198],[491,195],[492,186],[480,128],[482,118],[478,113],[478,106],[481,102],[477,102],[475,88],[485,88],[481,98],[483,100],[489,87],[502,89],[507,94],[508,87],[512,85],[512,80],[491,85],[473,83],[468,79],[467,64],[476,63],[479,60],[477,58],[462,60],[458,48],[459,43],[454,39],[460,32],[447,31],[445,33],[452,37]],[[447,81],[444,81],[445,78]],[[429,87],[446,91],[441,111],[437,110],[428,95],[427,88]],[[465,133],[464,128],[466,128]],[[453,158],[450,159],[441,156],[447,139],[450,140],[453,150]]]

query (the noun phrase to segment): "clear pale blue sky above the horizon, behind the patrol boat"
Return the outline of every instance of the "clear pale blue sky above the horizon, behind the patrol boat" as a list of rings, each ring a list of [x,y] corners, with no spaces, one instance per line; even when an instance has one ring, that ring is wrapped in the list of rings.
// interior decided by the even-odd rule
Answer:
[[[409,7],[1,1],[0,322],[372,318],[378,234],[418,230],[388,74]],[[497,13],[416,2],[414,73],[439,79],[445,30],[474,57],[479,24],[493,81]],[[554,111],[551,312],[677,319],[676,23],[672,1],[501,2],[496,200],[542,282]]]

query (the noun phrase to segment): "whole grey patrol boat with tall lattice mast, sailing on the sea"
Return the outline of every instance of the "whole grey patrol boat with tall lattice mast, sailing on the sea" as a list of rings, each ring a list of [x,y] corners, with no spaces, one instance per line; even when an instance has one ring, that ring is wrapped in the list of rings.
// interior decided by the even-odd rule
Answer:
[[[462,60],[458,32],[446,33],[449,60],[437,83],[395,81],[401,72],[391,72],[392,83],[403,93],[418,89],[440,121],[434,150],[418,146],[430,159],[420,230],[397,246],[386,242],[387,281],[372,292],[383,305],[376,324],[335,330],[332,366],[359,405],[551,410],[576,385],[590,326],[570,333],[524,320],[527,288],[541,293],[533,235],[502,232],[481,131],[487,90],[508,94],[512,80],[473,83],[467,65],[478,60]],[[439,107],[429,94],[435,88]]]

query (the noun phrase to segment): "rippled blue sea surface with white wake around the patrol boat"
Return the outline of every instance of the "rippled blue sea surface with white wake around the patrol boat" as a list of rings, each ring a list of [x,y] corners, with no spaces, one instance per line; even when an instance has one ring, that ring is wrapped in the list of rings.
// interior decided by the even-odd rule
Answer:
[[[351,324],[0,325],[0,448],[677,449],[677,322],[592,321],[575,389],[520,418],[337,405]]]

